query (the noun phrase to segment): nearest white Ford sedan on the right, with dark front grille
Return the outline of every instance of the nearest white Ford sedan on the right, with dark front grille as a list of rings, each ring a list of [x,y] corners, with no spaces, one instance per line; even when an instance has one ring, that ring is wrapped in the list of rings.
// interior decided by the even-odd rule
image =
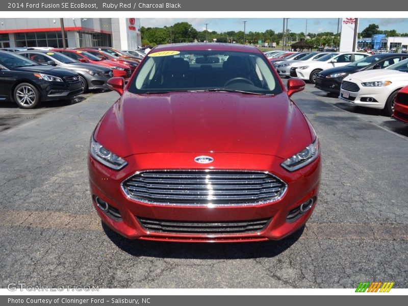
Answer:
[[[339,98],[355,105],[384,110],[392,115],[398,91],[408,85],[408,59],[385,69],[366,70],[348,75]]]

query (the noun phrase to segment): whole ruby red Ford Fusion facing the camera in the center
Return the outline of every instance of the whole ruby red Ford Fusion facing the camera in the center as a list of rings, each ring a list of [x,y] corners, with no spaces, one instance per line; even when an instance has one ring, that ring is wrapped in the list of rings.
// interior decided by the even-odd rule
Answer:
[[[130,239],[282,239],[318,199],[319,141],[259,49],[153,48],[97,124],[88,167],[93,205]]]

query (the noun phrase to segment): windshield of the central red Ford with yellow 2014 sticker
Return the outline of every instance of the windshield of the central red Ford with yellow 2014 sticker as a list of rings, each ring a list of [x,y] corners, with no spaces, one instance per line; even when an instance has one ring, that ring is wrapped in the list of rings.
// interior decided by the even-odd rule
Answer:
[[[260,54],[183,50],[148,54],[129,90],[133,93],[239,91],[277,94],[282,92],[282,87]]]

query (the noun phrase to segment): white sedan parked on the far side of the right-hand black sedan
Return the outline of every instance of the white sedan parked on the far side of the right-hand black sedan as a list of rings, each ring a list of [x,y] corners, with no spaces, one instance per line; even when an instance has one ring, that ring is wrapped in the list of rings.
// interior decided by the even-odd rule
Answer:
[[[312,84],[315,84],[316,76],[320,71],[345,66],[367,56],[369,54],[361,52],[329,53],[316,61],[293,65],[290,69],[290,77],[309,80]]]

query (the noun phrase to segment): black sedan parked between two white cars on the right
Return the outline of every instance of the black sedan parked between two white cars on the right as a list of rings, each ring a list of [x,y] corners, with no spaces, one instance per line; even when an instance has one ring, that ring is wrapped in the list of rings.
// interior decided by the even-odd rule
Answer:
[[[406,58],[408,58],[407,54],[381,53],[345,66],[326,69],[317,74],[315,87],[323,91],[340,94],[341,82],[347,75],[363,70],[386,68]]]

